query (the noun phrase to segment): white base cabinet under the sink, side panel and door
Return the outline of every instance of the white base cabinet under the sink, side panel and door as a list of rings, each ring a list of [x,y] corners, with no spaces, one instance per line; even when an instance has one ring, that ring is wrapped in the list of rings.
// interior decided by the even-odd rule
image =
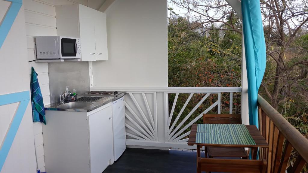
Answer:
[[[43,125],[48,173],[101,173],[113,163],[112,109],[46,111]]]

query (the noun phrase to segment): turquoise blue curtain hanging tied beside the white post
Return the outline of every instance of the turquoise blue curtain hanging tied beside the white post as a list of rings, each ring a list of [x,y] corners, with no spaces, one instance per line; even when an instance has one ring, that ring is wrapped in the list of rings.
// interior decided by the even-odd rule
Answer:
[[[248,78],[249,123],[258,125],[257,96],[266,64],[266,50],[259,0],[241,0]]]

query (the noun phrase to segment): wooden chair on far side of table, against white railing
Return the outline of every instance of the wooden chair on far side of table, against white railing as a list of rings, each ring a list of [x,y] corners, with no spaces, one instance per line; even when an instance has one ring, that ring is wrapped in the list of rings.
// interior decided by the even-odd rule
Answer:
[[[241,114],[203,114],[204,124],[241,124]],[[213,157],[241,157],[248,159],[244,148],[237,147],[206,147],[205,156]]]

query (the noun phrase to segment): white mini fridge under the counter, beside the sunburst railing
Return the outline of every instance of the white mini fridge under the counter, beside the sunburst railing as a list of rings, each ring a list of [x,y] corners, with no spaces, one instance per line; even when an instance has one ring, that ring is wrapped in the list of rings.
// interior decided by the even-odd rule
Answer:
[[[124,96],[112,104],[112,130],[114,161],[119,159],[126,149]]]

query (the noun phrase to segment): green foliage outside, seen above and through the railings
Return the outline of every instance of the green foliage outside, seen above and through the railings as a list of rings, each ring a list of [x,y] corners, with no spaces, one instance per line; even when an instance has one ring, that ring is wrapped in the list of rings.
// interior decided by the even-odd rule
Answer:
[[[234,14],[233,14],[234,15]],[[241,86],[241,34],[228,30],[229,26],[214,26],[206,28],[207,32],[200,34],[196,27],[186,18],[172,15],[168,18],[168,85],[169,87],[220,87],[220,86]],[[233,16],[233,26],[241,29],[241,20]],[[230,21],[229,21],[230,23]],[[265,35],[267,30],[264,28]],[[273,47],[279,47],[279,33],[269,34],[265,38]],[[307,60],[308,34],[297,38],[294,50],[297,53],[286,66],[302,60]],[[274,49],[274,48],[272,48]],[[271,51],[271,48],[268,50]],[[305,56],[303,56],[305,55]],[[287,55],[286,58],[288,58]],[[294,66],[291,71],[292,76],[299,76],[297,68],[307,68],[305,65]],[[267,57],[265,79],[275,77],[276,62],[271,57]],[[308,103],[305,100],[308,95],[307,79],[290,80],[297,82],[291,87],[294,93],[293,98],[286,98],[278,107],[278,111],[302,134],[308,134]],[[288,84],[288,83],[286,83]],[[268,84],[268,89],[273,90],[273,82]],[[233,93],[233,113],[240,113],[240,93]],[[264,88],[260,88],[259,94],[267,98]],[[282,95],[283,93],[280,93]],[[205,94],[194,95],[184,109],[179,120],[175,124],[177,127],[180,122],[189,114]],[[189,94],[180,94],[172,116],[171,125],[176,116],[180,113]],[[175,94],[169,94],[169,114],[173,105]],[[267,98],[267,100],[269,100]],[[192,116],[182,125],[183,128],[206,108],[217,101],[217,94],[211,94]],[[229,112],[229,93],[222,94],[222,113]],[[214,107],[209,113],[217,113]],[[198,120],[197,123],[201,123]],[[171,126],[170,125],[170,126]],[[175,128],[174,127],[174,128]],[[173,128],[173,129],[174,129]],[[189,130],[189,129],[188,129]],[[184,131],[182,134],[187,132]]]

